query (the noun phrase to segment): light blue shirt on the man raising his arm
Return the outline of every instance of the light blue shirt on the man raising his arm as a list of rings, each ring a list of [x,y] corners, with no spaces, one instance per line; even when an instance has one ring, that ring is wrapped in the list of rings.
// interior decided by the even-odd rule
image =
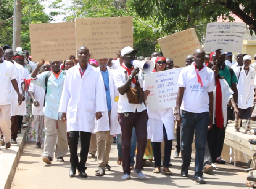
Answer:
[[[35,85],[39,85],[45,89],[45,78],[48,74],[48,71],[45,71],[37,77],[32,78],[29,76],[31,83]],[[47,93],[45,95],[45,107],[43,108],[43,112],[45,116],[51,118],[53,120],[59,120],[61,117],[61,113],[59,113],[59,105],[60,105],[60,97],[63,89],[63,84],[65,80],[66,74],[61,71],[58,79],[56,79],[55,75],[51,73],[47,82]],[[41,99],[41,103],[43,103],[44,99]]]

